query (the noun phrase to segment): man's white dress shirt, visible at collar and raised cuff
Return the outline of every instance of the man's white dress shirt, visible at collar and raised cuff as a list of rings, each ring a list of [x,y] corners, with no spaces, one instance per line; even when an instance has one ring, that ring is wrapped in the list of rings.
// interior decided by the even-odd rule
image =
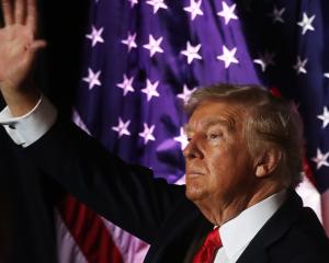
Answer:
[[[12,117],[8,107],[0,112],[0,124],[13,141],[27,147],[39,139],[55,123],[57,110],[42,96],[35,107],[21,117]],[[285,199],[285,191],[271,195],[262,202],[241,211],[219,229],[223,247],[215,263],[235,263],[247,245],[273,216]]]

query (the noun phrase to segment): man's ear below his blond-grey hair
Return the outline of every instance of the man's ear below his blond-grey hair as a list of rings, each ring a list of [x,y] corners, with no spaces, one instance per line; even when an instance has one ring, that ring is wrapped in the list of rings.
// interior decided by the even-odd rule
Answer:
[[[282,152],[276,147],[261,150],[254,160],[254,174],[257,178],[265,178],[270,175],[277,167],[282,158]]]

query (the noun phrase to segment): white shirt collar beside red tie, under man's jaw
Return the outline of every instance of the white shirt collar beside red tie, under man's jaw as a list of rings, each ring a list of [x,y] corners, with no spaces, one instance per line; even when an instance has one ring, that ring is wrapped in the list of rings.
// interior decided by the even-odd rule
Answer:
[[[286,197],[283,190],[241,211],[219,228],[223,249],[229,260],[241,255],[258,231],[280,208]]]

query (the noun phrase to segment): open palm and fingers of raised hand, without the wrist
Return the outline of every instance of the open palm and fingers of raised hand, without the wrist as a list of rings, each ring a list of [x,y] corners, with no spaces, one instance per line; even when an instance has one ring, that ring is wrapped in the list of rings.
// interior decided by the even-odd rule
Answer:
[[[14,5],[14,9],[13,9]],[[4,27],[0,30],[0,84],[19,88],[32,73],[35,53],[45,46],[35,39],[35,0],[2,0]]]

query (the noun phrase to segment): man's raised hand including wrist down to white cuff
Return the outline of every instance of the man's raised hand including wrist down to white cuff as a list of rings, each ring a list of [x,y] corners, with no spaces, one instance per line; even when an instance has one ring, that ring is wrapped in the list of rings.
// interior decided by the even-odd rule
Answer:
[[[37,95],[32,82],[33,66],[36,52],[46,43],[35,38],[35,0],[1,2],[4,27],[0,30],[0,90],[12,112],[21,115],[35,103]]]

